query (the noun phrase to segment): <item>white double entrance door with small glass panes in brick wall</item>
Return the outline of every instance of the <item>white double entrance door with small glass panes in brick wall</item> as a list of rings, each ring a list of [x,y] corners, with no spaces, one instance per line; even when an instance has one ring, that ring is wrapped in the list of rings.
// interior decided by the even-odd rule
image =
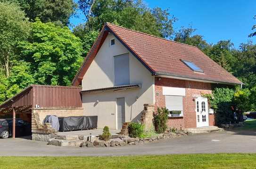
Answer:
[[[207,98],[196,98],[197,127],[209,126]]]

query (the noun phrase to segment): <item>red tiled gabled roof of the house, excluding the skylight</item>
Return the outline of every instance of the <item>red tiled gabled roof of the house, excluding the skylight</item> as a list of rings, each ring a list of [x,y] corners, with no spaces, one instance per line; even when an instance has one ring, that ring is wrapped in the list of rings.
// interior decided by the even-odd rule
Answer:
[[[138,31],[132,31],[111,23],[106,23],[98,39],[87,54],[82,67],[73,79],[73,85],[79,85],[91,62],[107,37],[113,35],[152,73],[188,79],[204,80],[216,83],[242,84],[236,77],[223,69],[215,61],[195,46],[158,38]],[[191,70],[182,60],[191,61],[204,73]]]

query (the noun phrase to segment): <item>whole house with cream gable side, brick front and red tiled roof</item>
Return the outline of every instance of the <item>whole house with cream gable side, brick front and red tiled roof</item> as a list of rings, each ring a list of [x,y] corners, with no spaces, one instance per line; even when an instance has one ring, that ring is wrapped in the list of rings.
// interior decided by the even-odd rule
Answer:
[[[106,23],[73,80],[82,85],[84,115],[98,127],[140,120],[144,104],[170,111],[168,126],[215,125],[203,94],[217,84],[241,85],[197,47]]]

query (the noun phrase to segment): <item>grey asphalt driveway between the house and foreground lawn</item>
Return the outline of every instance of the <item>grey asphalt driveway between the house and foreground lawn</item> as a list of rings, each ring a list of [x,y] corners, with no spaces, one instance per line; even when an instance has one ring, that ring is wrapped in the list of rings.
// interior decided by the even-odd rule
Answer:
[[[230,131],[118,147],[58,147],[23,138],[0,139],[0,156],[100,156],[139,154],[256,153],[256,132]]]

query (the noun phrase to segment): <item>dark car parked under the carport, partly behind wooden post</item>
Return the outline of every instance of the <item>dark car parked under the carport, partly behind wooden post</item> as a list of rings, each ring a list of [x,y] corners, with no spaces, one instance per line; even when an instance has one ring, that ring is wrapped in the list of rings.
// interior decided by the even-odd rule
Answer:
[[[31,135],[31,123],[28,123],[22,119],[16,119],[15,122],[15,135],[29,136]],[[0,119],[0,136],[2,138],[8,138],[12,135],[12,119]]]

